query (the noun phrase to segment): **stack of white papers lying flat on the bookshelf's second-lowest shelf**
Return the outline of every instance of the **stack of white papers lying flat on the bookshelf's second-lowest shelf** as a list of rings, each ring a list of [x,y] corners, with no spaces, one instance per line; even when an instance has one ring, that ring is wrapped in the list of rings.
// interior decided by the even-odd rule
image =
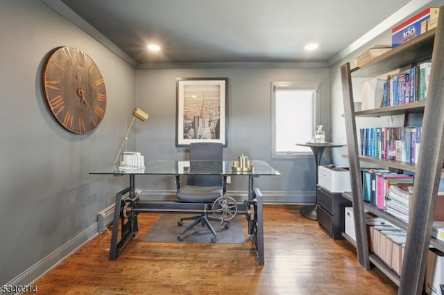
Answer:
[[[386,197],[386,212],[404,222],[409,222],[409,204],[412,192],[412,186],[391,185]]]

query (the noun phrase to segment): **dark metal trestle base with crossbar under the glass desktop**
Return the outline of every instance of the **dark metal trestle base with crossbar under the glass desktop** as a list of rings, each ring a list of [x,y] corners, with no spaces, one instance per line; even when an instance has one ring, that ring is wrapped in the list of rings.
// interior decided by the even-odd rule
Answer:
[[[130,176],[130,179],[133,178]],[[130,181],[134,184],[134,181]],[[237,202],[237,214],[245,215],[248,220],[248,234],[251,235],[256,248],[258,265],[264,265],[264,219],[262,193],[258,188],[253,189],[253,178],[250,178],[248,200]],[[116,260],[123,248],[133,240],[139,232],[137,215],[139,213],[204,213],[205,204],[182,202],[149,202],[142,201],[133,194],[130,186],[116,195],[114,220],[112,223],[110,260]],[[123,199],[129,193],[129,197]],[[119,226],[120,221],[120,226]],[[120,240],[118,233],[120,227]]]

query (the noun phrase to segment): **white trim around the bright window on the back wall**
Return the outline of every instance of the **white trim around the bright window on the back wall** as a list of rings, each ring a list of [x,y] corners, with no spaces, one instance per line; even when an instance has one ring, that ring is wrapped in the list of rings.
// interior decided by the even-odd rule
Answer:
[[[275,118],[276,118],[276,110],[275,110],[275,89],[297,89],[297,90],[314,90],[314,99],[313,99],[313,109],[315,111],[314,114],[314,122],[313,126],[314,129],[316,128],[316,125],[321,125],[321,96],[319,94],[320,89],[320,82],[302,82],[302,81],[277,81],[277,82],[271,82],[271,158],[272,159],[304,159],[304,158],[311,158],[314,157],[311,150],[307,152],[276,152],[276,146],[275,146]],[[313,134],[315,130],[312,130]],[[296,144],[296,143],[295,143]]]

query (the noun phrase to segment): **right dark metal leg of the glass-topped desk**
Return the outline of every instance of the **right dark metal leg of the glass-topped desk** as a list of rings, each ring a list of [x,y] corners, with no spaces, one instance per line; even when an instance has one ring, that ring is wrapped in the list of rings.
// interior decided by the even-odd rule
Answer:
[[[259,188],[254,191],[255,199],[250,201],[254,204],[254,220],[248,220],[248,231],[251,231],[253,242],[256,247],[256,259],[258,265],[264,265],[264,211],[262,208],[262,193]]]

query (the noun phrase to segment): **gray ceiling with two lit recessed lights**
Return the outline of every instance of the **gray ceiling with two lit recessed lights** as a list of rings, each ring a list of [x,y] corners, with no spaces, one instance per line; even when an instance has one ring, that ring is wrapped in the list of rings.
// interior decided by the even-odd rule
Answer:
[[[109,39],[135,64],[153,66],[190,62],[328,62],[382,21],[393,17],[393,13],[404,9],[405,14],[409,5],[410,10],[418,9],[430,1],[60,2],[91,25],[94,31]],[[146,45],[150,42],[160,44],[162,51],[148,52]],[[305,51],[304,46],[309,42],[317,42],[319,48]]]

